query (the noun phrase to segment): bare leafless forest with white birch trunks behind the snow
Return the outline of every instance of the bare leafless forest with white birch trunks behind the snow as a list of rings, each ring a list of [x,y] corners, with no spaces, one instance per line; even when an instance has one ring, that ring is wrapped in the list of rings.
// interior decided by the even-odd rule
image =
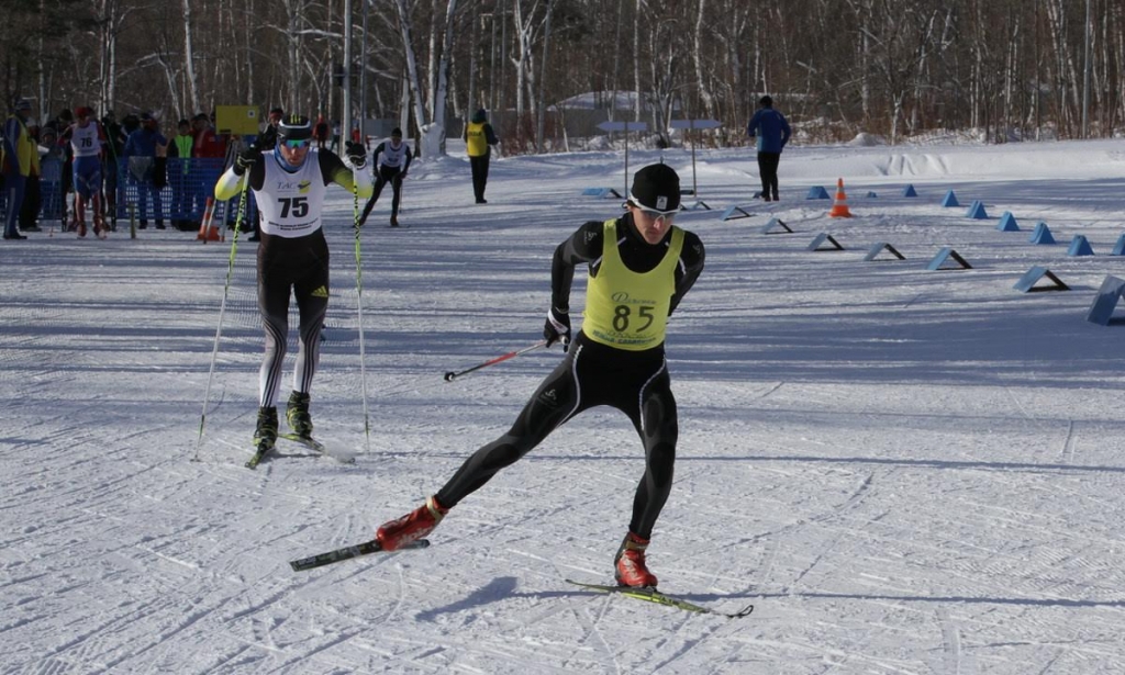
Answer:
[[[709,142],[737,145],[758,97],[770,93],[816,142],[973,130],[1004,143],[1125,129],[1125,0],[0,7],[4,103],[33,99],[40,119],[82,104],[164,120],[217,104],[280,106],[334,120],[400,119],[416,136],[423,125],[459,130],[486,108],[504,120],[504,152],[524,153],[564,147],[561,102],[579,94],[592,92],[609,119],[646,121],[663,140],[672,119],[716,119],[723,129]],[[626,106],[613,108],[619,100]]]

